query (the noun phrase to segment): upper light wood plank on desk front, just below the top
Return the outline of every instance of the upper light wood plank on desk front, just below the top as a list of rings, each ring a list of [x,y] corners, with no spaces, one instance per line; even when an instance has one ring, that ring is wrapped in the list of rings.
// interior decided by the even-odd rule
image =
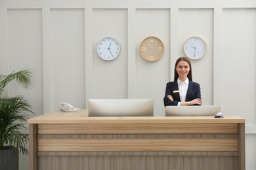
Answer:
[[[118,120],[116,120],[118,121]],[[237,124],[39,124],[38,134],[236,134]]]

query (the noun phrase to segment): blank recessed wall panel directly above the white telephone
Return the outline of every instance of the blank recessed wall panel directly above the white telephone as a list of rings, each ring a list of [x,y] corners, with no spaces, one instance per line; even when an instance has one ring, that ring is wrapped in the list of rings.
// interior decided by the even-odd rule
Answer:
[[[85,107],[83,9],[51,10],[52,110],[66,102]]]

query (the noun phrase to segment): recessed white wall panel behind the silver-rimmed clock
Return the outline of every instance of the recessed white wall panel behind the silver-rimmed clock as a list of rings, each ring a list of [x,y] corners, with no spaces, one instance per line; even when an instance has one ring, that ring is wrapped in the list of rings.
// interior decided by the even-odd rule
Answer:
[[[104,37],[114,37],[121,44],[119,56],[101,59],[96,46]],[[93,9],[93,97],[127,98],[127,9]]]

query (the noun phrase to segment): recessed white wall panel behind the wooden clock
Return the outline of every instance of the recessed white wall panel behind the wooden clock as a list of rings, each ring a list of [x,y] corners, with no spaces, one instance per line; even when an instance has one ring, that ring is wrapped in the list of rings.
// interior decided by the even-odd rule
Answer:
[[[169,81],[170,63],[170,10],[137,9],[137,58],[136,87],[138,98],[154,99],[154,115],[164,116],[163,97]],[[161,39],[164,44],[163,56],[158,61],[147,61],[140,56],[140,43],[150,36]]]

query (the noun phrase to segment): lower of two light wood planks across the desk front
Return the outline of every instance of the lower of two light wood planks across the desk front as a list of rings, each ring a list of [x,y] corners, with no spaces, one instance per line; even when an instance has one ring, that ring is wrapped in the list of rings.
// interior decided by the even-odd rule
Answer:
[[[38,151],[238,152],[237,139],[38,139]]]

